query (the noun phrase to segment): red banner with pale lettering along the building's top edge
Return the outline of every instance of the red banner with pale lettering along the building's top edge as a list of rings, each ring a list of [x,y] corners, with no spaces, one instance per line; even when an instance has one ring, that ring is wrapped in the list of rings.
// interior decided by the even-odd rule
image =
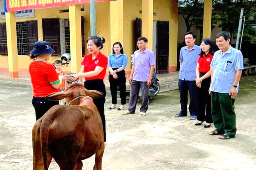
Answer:
[[[96,2],[112,0],[96,0]],[[5,12],[90,3],[90,0],[4,0]]]

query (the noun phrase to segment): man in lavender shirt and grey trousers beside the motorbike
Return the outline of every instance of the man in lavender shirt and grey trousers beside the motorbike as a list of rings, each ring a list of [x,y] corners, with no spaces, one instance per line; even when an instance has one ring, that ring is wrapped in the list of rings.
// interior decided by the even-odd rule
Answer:
[[[145,116],[148,110],[148,88],[154,72],[154,52],[149,50],[146,45],[148,39],[139,37],[137,45],[139,50],[135,51],[132,59],[132,70],[129,78],[131,84],[129,108],[122,114],[134,114],[139,95],[139,89],[142,89],[142,105],[140,107],[139,116]]]

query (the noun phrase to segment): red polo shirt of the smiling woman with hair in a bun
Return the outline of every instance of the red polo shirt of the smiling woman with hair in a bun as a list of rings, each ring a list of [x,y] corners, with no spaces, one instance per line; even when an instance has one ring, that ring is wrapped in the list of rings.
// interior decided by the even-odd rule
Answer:
[[[96,80],[96,79],[103,80],[106,75],[106,69],[108,66],[108,58],[105,55],[101,54],[101,52],[99,52],[99,54],[93,60],[93,54],[87,54],[84,56],[81,65],[84,66],[83,72],[85,72],[85,73],[94,71],[96,66],[104,68],[102,70],[102,72],[99,73],[99,75],[86,78],[86,80]]]

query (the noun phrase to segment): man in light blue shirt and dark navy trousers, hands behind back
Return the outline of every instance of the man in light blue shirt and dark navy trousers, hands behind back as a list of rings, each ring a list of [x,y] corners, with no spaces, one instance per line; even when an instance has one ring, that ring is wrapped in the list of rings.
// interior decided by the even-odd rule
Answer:
[[[179,93],[181,111],[175,117],[187,116],[188,110],[190,119],[197,119],[197,86],[196,86],[196,68],[197,60],[201,52],[201,48],[195,45],[196,35],[189,31],[185,33],[185,43],[187,46],[182,47],[180,50],[179,61]],[[188,105],[188,91],[190,95],[190,103]]]

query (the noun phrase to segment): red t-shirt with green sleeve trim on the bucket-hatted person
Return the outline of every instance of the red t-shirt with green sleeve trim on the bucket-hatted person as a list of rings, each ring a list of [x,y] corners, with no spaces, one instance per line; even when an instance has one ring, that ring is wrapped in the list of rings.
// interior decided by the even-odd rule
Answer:
[[[52,92],[59,92],[59,89],[52,86],[60,82],[52,64],[45,61],[33,61],[29,65],[29,74],[35,97],[45,97]]]

